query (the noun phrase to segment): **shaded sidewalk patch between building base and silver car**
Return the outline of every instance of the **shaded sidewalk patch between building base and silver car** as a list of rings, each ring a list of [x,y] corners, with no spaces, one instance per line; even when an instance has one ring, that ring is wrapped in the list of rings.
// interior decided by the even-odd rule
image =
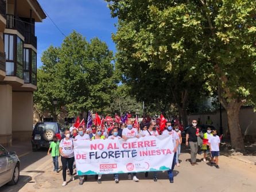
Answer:
[[[6,147],[8,151],[15,151],[19,158],[28,155],[32,152],[32,146],[30,141],[26,142],[13,142],[13,146]]]

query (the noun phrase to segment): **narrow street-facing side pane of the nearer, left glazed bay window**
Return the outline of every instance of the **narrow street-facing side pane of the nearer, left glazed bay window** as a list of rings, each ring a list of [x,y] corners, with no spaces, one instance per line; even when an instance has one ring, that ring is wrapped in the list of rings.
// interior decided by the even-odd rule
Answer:
[[[23,41],[17,36],[17,72],[16,76],[23,79]]]

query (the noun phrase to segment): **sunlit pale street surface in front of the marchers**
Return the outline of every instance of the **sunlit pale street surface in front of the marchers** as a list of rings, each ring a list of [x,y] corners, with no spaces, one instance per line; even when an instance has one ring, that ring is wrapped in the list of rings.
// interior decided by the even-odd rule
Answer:
[[[158,182],[153,181],[153,174],[145,178],[138,174],[139,182],[127,180],[127,175],[120,175],[120,182],[116,184],[113,175],[103,175],[102,184],[98,184],[94,176],[88,176],[87,182],[79,186],[77,175],[75,181],[62,187],[62,173],[53,172],[51,156],[46,150],[30,152],[21,159],[21,176],[18,185],[3,186],[3,192],[15,191],[74,191],[79,189],[90,191],[255,191],[256,166],[240,162],[228,156],[220,156],[220,169],[211,167],[200,161],[203,155],[197,155],[198,165],[189,163],[189,150],[182,146],[180,167],[174,168],[174,183],[169,183],[167,173],[158,174]],[[34,162],[34,163],[33,163]],[[30,164],[30,165],[29,165]],[[69,175],[67,175],[67,181]]]

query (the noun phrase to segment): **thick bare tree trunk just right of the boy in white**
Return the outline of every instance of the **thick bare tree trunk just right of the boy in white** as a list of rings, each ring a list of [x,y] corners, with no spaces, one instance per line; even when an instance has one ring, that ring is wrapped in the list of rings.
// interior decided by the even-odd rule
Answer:
[[[241,128],[239,126],[239,111],[241,108],[241,104],[239,104],[238,102],[231,103],[228,104],[226,108],[228,127],[230,129],[231,146],[237,151],[244,151],[245,144],[243,143],[243,136]]]

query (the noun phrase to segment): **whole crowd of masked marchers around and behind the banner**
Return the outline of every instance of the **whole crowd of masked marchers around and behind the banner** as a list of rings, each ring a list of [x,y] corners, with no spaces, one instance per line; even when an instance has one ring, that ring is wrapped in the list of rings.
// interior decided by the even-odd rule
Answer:
[[[173,153],[174,158],[172,162],[171,169],[168,170],[169,182],[173,183],[173,169],[174,166],[180,166],[179,164],[179,155],[181,151],[181,130],[178,124],[174,124],[172,126],[172,122],[165,122],[165,128],[163,131],[160,131],[156,126],[156,120],[151,120],[150,122],[141,122],[140,126],[134,127],[134,122],[130,119],[127,119],[127,122],[122,123],[110,123],[109,126],[102,129],[100,126],[92,125],[90,128],[84,128],[82,126],[76,128],[74,124],[68,129],[64,131],[64,135],[62,138],[58,138],[54,136],[53,142],[48,150],[48,155],[51,151],[51,156],[53,158],[53,171],[59,171],[59,162],[58,158],[60,156],[61,164],[62,164],[62,173],[63,173],[63,184],[62,186],[67,185],[67,169],[69,170],[69,174],[71,175],[70,181],[73,181],[73,167],[74,167],[74,150],[73,150],[73,142],[76,140],[88,139],[130,139],[130,138],[140,138],[143,136],[157,136],[157,135],[169,135],[172,137],[173,142]],[[207,128],[207,132],[202,134],[200,128],[197,127],[197,120],[192,120],[192,125],[189,126],[186,132],[186,146],[189,146],[191,149],[191,165],[195,166],[196,156],[197,156],[197,138],[203,139],[203,145],[201,150],[204,152],[203,161],[206,162],[207,152],[210,151],[210,163],[211,165],[219,168],[219,136],[216,135],[216,130],[211,130],[210,127]],[[170,159],[171,160],[171,159]],[[145,177],[148,177],[148,172],[145,173]],[[133,181],[138,182],[136,173],[129,173],[127,175],[129,180],[133,179]],[[87,179],[87,175],[79,176],[79,185],[83,185],[83,182]],[[102,175],[95,175],[95,179],[98,183],[102,183]],[[157,182],[157,171],[153,173],[153,180]],[[115,183],[119,183],[119,175],[114,174]]]

